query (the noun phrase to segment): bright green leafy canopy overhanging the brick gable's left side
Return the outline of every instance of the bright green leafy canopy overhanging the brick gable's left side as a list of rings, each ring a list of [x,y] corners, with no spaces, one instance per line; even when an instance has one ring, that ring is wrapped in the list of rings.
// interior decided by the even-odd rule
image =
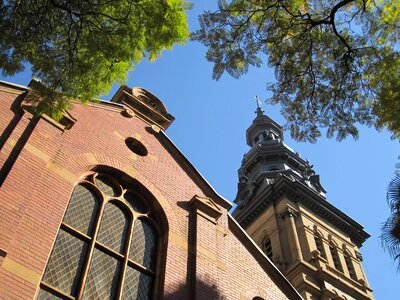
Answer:
[[[0,68],[32,65],[50,88],[40,112],[59,114],[123,83],[135,63],[154,60],[188,36],[185,0],[6,0],[0,3]]]

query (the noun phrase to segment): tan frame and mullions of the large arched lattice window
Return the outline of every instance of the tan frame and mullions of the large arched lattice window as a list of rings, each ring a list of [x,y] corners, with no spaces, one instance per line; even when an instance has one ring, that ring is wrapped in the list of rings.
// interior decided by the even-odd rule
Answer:
[[[110,184],[112,184],[115,188],[118,189],[119,195],[117,196],[109,196],[106,195],[101,188],[98,186],[96,183],[96,179],[104,178],[106,181],[108,181]],[[118,176],[117,176],[118,177]],[[125,180],[124,180],[125,179]],[[61,299],[81,299],[84,295],[85,291],[85,286],[87,284],[88,280],[88,273],[89,269],[91,266],[91,262],[94,257],[94,250],[97,249],[98,251],[101,251],[102,253],[111,256],[112,258],[116,259],[121,263],[121,267],[118,270],[118,284],[116,287],[116,299],[121,299],[123,291],[124,291],[124,282],[126,279],[126,274],[127,274],[127,269],[128,266],[131,268],[137,270],[140,272],[140,274],[145,274],[149,277],[152,278],[152,287],[150,289],[151,291],[151,297],[150,299],[156,299],[159,294],[159,289],[160,289],[160,276],[161,276],[161,271],[163,271],[164,268],[161,268],[162,266],[162,253],[165,252],[165,249],[163,249],[163,244],[164,244],[164,237],[165,237],[165,230],[161,229],[161,223],[159,220],[159,215],[158,215],[158,209],[154,207],[154,199],[147,199],[148,192],[142,193],[140,188],[138,189],[137,184],[130,184],[126,182],[126,178],[121,180],[116,180],[113,178],[113,174],[110,174],[109,172],[96,172],[96,171],[89,171],[86,172],[75,184],[72,189],[72,192],[70,194],[67,208],[64,212],[63,218],[60,222],[60,226],[58,227],[57,234],[55,236],[50,255],[48,257],[47,263],[46,263],[46,268],[42,274],[41,281],[39,283],[39,289],[38,293],[40,293],[40,290],[44,290],[47,292],[50,292],[54,294],[57,297],[60,297]],[[95,219],[93,221],[94,225],[93,228],[91,229],[90,235],[87,235],[85,233],[80,232],[78,229],[73,228],[71,225],[68,225],[65,223],[65,216],[67,215],[68,208],[70,207],[70,203],[73,197],[73,193],[76,190],[78,186],[83,186],[85,189],[87,189],[89,192],[95,195],[97,198],[96,201],[98,201],[98,207],[93,208],[92,214],[95,214]],[[145,213],[138,213],[135,211],[130,204],[128,204],[128,200],[124,198],[125,194],[127,193],[132,193],[135,197],[139,198],[139,201],[144,203],[145,206],[147,206],[147,212]],[[144,196],[143,194],[146,194]],[[127,232],[125,233],[125,242],[124,242],[124,248],[123,251],[120,253],[114,249],[111,249],[107,245],[105,245],[102,242],[98,241],[99,238],[99,232],[101,228],[101,224],[103,221],[104,217],[104,212],[105,208],[107,207],[107,204],[113,204],[116,205],[121,212],[124,213],[126,217],[126,222],[127,222]],[[97,211],[95,211],[97,209]],[[156,220],[154,217],[157,217]],[[154,263],[153,263],[153,270],[150,269],[150,267],[146,267],[144,265],[141,265],[140,263],[133,261],[132,259],[129,258],[130,256],[130,250],[131,250],[131,243],[132,243],[132,237],[134,234],[134,228],[137,226],[137,221],[141,221],[143,223],[147,223],[152,230],[155,232],[157,241],[155,243],[155,251],[154,251]],[[66,292],[46,283],[43,281],[47,267],[49,264],[49,261],[53,255],[53,250],[55,247],[56,240],[60,234],[60,231],[64,231],[67,234],[72,235],[74,238],[79,239],[80,241],[87,243],[87,250],[84,258],[84,262],[82,264],[82,269],[80,271],[79,280],[78,280],[78,287],[77,287],[77,292],[75,296],[71,296],[67,294]],[[165,248],[165,247],[164,247]],[[83,251],[83,250],[82,250]],[[81,254],[82,255],[82,254]],[[38,294],[39,295],[39,294]]]

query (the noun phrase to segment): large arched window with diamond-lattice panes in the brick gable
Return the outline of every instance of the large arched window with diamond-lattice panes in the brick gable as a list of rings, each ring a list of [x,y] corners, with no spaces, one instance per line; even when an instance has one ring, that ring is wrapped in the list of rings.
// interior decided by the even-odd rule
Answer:
[[[151,299],[153,216],[136,190],[90,173],[73,190],[37,299]]]

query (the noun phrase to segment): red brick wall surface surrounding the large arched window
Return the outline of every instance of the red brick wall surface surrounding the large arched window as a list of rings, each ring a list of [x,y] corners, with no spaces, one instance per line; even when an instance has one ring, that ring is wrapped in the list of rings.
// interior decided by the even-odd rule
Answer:
[[[14,116],[9,107],[15,98],[0,92],[1,133]],[[0,256],[1,299],[34,298],[73,183],[96,164],[134,175],[163,207],[169,224],[165,299],[188,299],[188,270],[195,270],[192,278],[198,299],[240,299],[241,295],[251,299],[260,289],[267,291],[270,299],[287,298],[229,231],[226,209],[221,207],[218,225],[192,215],[195,230],[192,228],[188,237],[188,202],[194,195],[212,195],[205,195],[207,188],[196,184],[182,168],[184,163],[146,130],[147,123],[91,105],[76,104],[70,113],[77,122],[62,131],[43,118],[33,126],[34,118],[25,112],[3,143],[0,167],[10,161],[21,136],[26,140],[10,172],[3,174],[0,187],[0,249],[7,253],[5,258]],[[34,129],[27,133],[27,127]],[[149,154],[134,155],[125,145],[127,137],[140,140]],[[188,248],[193,249],[193,236],[196,264],[191,268],[188,260],[193,253]]]

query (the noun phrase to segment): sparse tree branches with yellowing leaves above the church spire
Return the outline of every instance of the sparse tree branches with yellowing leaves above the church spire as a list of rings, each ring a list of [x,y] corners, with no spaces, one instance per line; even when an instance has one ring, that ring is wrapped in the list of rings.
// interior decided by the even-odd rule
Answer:
[[[291,134],[314,142],[357,138],[358,124],[400,137],[400,1],[233,0],[200,16],[193,39],[208,47],[213,78],[238,78],[266,55],[270,103]]]

